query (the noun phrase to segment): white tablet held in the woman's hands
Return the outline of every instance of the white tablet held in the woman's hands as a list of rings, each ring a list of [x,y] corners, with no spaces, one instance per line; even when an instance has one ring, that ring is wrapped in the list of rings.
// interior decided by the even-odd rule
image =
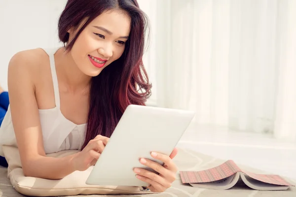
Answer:
[[[147,168],[140,158],[170,155],[193,119],[194,112],[129,105],[113,131],[86,184],[107,186],[148,186],[136,178],[135,167]],[[162,162],[156,161],[163,165]]]

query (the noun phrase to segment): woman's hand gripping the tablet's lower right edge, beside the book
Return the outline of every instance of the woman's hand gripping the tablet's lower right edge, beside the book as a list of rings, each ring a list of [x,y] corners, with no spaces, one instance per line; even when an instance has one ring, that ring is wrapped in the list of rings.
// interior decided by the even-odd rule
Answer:
[[[177,155],[177,153],[178,150],[176,148],[170,156],[160,153],[151,153],[153,158],[164,162],[163,166],[156,162],[152,162],[151,160],[142,158],[140,160],[141,164],[154,169],[159,174],[150,172],[143,168],[135,168],[134,171],[137,173],[136,177],[150,184],[148,189],[151,192],[164,192],[166,189],[170,188],[171,184],[176,180],[178,168],[176,164],[173,163],[172,159]]]

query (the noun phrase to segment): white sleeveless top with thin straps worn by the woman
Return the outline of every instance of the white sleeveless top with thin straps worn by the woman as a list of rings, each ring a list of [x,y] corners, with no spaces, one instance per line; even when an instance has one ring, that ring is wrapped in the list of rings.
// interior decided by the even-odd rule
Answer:
[[[62,150],[80,150],[84,142],[86,124],[76,125],[60,110],[60,92],[55,69],[54,54],[59,48],[43,49],[49,56],[56,107],[39,109],[45,153]],[[16,138],[11,121],[10,106],[0,127],[0,156],[4,157],[2,145],[16,146]]]

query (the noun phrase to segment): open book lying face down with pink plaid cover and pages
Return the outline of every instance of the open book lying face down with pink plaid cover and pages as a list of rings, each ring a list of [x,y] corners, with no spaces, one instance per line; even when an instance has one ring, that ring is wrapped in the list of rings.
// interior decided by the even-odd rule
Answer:
[[[240,169],[232,160],[202,171],[180,171],[184,184],[193,187],[227,190],[243,182],[255,190],[287,190],[292,185],[279,175],[255,174]]]

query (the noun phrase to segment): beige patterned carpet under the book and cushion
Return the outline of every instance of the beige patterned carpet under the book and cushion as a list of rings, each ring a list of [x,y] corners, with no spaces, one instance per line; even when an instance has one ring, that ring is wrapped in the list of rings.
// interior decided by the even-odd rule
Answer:
[[[229,158],[232,159],[232,158]],[[203,170],[222,164],[219,160],[191,150],[179,149],[179,154],[174,159],[179,170]],[[239,165],[254,173],[265,173],[257,169]],[[287,178],[286,178],[287,179]],[[295,180],[287,179],[293,184]],[[166,192],[153,195],[128,195],[129,197],[296,197],[296,188],[290,187],[286,191],[257,191],[244,185],[237,185],[229,190],[209,190],[193,188],[181,184],[180,177],[173,183],[173,186]],[[127,195],[90,195],[90,197],[128,197]],[[17,193],[7,179],[6,168],[0,167],[0,197],[23,197]],[[75,196],[85,197],[85,196]]]

